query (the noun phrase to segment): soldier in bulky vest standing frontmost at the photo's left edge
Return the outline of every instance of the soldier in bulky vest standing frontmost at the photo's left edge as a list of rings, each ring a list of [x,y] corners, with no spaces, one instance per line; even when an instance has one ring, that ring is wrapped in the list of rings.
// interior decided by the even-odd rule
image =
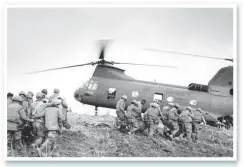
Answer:
[[[26,116],[26,112],[22,106],[22,98],[20,96],[13,96],[12,103],[8,105],[8,139],[11,142],[11,149],[13,150],[13,145],[15,149],[23,150],[23,143],[21,141],[21,130],[26,122],[33,122],[33,119],[29,119]]]

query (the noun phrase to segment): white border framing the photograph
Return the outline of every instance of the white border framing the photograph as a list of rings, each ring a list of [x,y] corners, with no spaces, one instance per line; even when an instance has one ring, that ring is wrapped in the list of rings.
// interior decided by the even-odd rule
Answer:
[[[233,157],[8,157],[7,156],[7,10],[8,8],[232,8],[233,9]],[[237,161],[237,5],[236,4],[81,4],[81,5],[4,5],[4,159],[5,161]]]

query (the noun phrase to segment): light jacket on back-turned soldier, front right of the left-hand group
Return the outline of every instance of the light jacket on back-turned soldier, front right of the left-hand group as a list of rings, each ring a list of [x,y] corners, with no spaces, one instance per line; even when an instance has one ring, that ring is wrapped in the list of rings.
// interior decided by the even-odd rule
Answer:
[[[65,120],[65,116],[58,106],[56,107],[47,107],[42,110],[39,114],[36,114],[34,118],[45,118],[45,127],[47,130],[59,130],[58,120]]]

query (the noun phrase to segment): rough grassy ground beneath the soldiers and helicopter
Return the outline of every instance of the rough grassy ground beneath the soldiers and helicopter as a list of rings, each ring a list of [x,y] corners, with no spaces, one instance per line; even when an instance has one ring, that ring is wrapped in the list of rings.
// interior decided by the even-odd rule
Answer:
[[[159,134],[152,140],[147,133],[128,135],[113,126],[109,115],[88,116],[69,113],[72,124],[54,148],[54,157],[232,157],[233,130],[202,126],[198,143],[170,141]],[[10,149],[8,155],[11,155]],[[27,149],[18,156],[37,156]]]

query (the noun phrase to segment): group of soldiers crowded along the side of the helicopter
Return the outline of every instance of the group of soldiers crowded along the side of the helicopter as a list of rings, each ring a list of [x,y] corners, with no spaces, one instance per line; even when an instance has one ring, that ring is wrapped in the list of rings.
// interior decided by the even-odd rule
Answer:
[[[148,129],[149,138],[157,131],[170,140],[197,142],[200,124],[206,125],[201,108],[196,108],[196,100],[191,100],[188,107],[180,106],[174,102],[173,97],[168,97],[167,104],[163,107],[159,105],[158,100],[153,100],[144,113],[142,108],[146,100],[132,100],[125,109],[126,101],[127,96],[123,95],[117,102],[116,126],[128,134]]]

